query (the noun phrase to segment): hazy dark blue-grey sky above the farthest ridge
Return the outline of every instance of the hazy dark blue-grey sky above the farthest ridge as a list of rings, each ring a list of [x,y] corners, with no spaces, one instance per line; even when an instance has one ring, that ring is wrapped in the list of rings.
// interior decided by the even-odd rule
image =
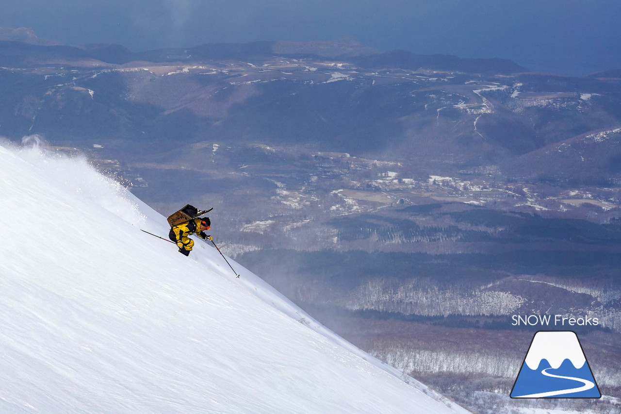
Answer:
[[[621,68],[619,0],[0,0],[0,26],[132,50],[351,36],[381,51],[509,58],[570,75]]]

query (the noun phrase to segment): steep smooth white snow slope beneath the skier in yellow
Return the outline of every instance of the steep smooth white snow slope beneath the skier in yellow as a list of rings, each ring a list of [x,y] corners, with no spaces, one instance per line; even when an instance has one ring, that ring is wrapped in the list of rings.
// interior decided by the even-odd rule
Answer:
[[[0,147],[0,192],[2,413],[466,413],[83,160]]]

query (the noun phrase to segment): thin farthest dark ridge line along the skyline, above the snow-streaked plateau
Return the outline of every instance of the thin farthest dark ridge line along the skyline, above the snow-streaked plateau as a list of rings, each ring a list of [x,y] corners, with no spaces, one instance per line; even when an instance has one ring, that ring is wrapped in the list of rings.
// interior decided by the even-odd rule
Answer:
[[[17,42],[11,43],[11,42]],[[24,45],[26,44],[26,45]],[[406,50],[380,53],[356,42],[337,39],[329,42],[252,42],[204,44],[189,48],[164,48],[131,52],[117,44],[91,44],[81,47],[59,46],[39,39],[30,29],[0,28],[0,65],[28,67],[50,63],[50,59],[71,62],[84,59],[122,65],[129,62],[204,62],[243,58],[270,58],[274,55],[297,58],[336,58],[353,60],[363,68],[431,68],[482,73],[527,71],[505,59],[459,58],[452,55],[415,55]],[[37,60],[39,62],[37,62]]]

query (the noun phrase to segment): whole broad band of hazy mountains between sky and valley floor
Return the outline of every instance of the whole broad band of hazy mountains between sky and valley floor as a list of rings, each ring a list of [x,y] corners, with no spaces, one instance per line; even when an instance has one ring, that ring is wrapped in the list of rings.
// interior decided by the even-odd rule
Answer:
[[[353,39],[131,52],[36,44],[19,33],[9,37],[32,42],[0,41],[0,88],[11,103],[0,110],[0,134],[12,139],[319,143],[416,168],[621,179],[614,138],[578,145],[621,126],[614,71],[568,78],[502,59],[379,53]],[[573,150],[549,152],[557,144]]]

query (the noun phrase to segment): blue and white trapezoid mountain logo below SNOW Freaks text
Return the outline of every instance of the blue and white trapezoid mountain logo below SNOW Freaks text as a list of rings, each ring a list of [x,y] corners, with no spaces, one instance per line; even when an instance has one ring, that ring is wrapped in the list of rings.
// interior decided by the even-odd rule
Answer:
[[[574,331],[533,336],[511,398],[600,398],[602,394]]]

